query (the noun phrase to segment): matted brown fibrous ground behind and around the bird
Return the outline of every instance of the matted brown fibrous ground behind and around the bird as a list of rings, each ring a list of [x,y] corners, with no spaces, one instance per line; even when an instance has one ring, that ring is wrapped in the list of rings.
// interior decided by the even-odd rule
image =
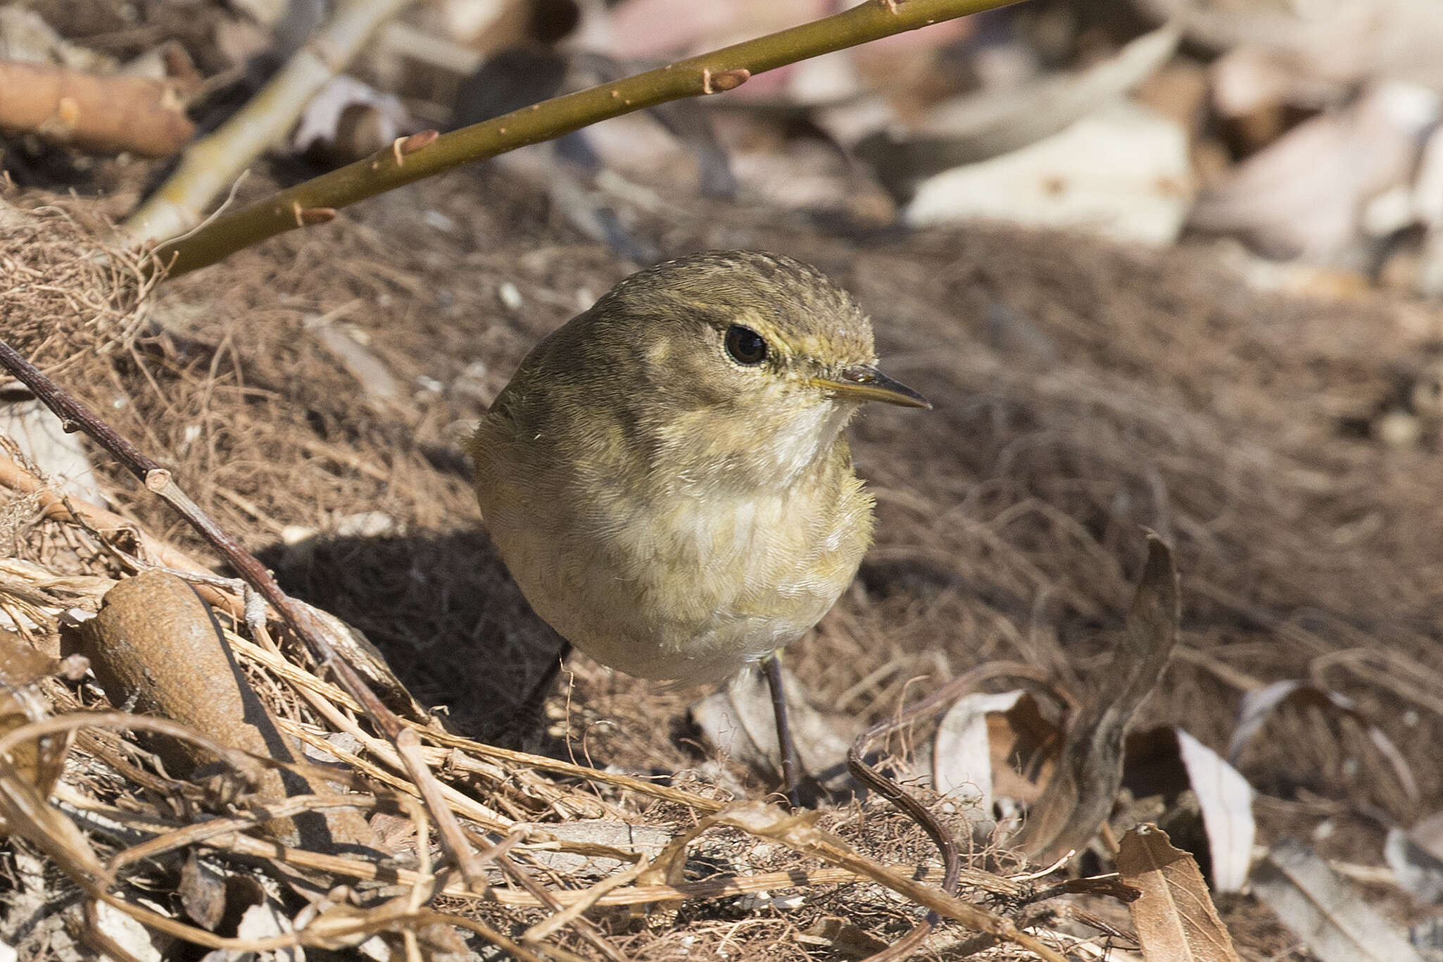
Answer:
[[[1367,735],[1284,712],[1241,764],[1260,841],[1377,865],[1387,825],[1431,813],[1439,423],[1423,412],[1421,438],[1403,445],[1359,425],[1427,377],[1436,309],[1257,292],[1203,247],[984,225],[900,234],[665,183],[619,209],[662,256],[758,247],[818,264],[872,315],[886,370],[935,404],[856,426],[877,539],[788,651],[808,699],[873,721],[905,692],[999,659],[1075,693],[1107,685],[1146,526],[1176,549],[1183,638],[1143,727],[1222,751],[1244,689],[1309,679],[1356,701],[1418,793]],[[284,588],[362,628],[457,731],[599,767],[714,774],[687,721],[700,692],[584,656],[545,719],[518,718],[556,638],[495,559],[460,452],[531,344],[633,269],[505,170],[463,169],[165,283],[160,334],[58,376],[173,467]],[[52,342],[40,360],[72,350]],[[203,555],[95,461],[118,510]],[[749,793],[772,787],[726,771]],[[1417,911],[1395,894],[1385,907]],[[1244,958],[1291,945],[1257,903],[1224,909]]]

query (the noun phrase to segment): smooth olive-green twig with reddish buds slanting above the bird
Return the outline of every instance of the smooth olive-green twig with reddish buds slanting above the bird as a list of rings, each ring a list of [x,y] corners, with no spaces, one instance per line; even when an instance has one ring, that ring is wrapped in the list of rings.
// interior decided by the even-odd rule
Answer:
[[[867,0],[812,23],[557,97],[440,137],[436,131],[413,134],[365,160],[306,181],[234,214],[221,215],[186,237],[167,241],[156,251],[157,260],[165,264],[167,276],[175,277],[214,264],[267,237],[325,222],[335,217],[336,208],[472,160],[551,140],[670,100],[733,90],[747,78],[778,66],[990,10],[1009,1],[1012,0]],[[147,235],[163,234],[150,231]]]

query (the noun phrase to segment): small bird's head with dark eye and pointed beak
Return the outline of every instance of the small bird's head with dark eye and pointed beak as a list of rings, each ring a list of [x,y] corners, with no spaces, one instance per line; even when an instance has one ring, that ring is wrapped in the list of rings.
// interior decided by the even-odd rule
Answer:
[[[877,370],[872,324],[815,267],[762,251],[693,254],[633,274],[586,315],[586,354],[683,472],[791,484],[857,407],[931,407]],[[700,480],[700,478],[698,478]]]

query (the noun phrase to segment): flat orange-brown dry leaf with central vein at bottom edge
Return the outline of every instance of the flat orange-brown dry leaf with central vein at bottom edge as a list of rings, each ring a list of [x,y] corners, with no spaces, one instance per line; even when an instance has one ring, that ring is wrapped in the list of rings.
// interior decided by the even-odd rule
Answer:
[[[1198,862],[1166,832],[1139,825],[1124,835],[1117,871],[1143,893],[1127,909],[1147,962],[1238,962]]]

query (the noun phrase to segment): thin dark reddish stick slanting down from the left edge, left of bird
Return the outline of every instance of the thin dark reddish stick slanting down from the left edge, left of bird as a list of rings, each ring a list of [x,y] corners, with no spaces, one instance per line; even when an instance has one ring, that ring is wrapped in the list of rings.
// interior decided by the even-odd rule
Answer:
[[[296,637],[299,637],[306,647],[310,649],[310,653],[316,657],[316,660],[330,669],[336,682],[346,690],[348,695],[361,703],[367,716],[371,719],[371,724],[377,727],[377,731],[382,732],[392,744],[395,744],[397,753],[405,764],[407,774],[411,776],[416,787],[421,792],[421,797],[427,800],[427,805],[431,809],[431,816],[436,819],[436,832],[440,836],[442,844],[446,846],[450,857],[456,859],[456,867],[460,870],[466,884],[476,891],[483,890],[486,885],[483,865],[470,848],[466,836],[462,835],[460,823],[456,820],[456,815],[442,802],[440,786],[436,784],[434,776],[421,760],[418,744],[405,744],[407,740],[403,738],[403,732],[410,732],[410,729],[401,724],[401,719],[397,718],[391,709],[381,703],[381,699],[375,696],[365,682],[361,680],[361,676],[356,675],[355,670],[336,654],[335,647],[332,647],[330,641],[326,640],[325,627],[317,624],[317,620],[309,611],[291,601],[290,597],[280,589],[280,585],[276,584],[276,579],[270,576],[266,566],[261,565],[254,555],[241,547],[240,542],[211,520],[211,517],[202,511],[185,491],[180,490],[180,487],[170,477],[170,471],[160,467],[157,461],[153,461],[141,454],[136,445],[120,436],[114,428],[107,425],[89,409],[71,397],[68,391],[42,374],[33,364],[22,357],[19,351],[4,341],[0,341],[0,365],[10,371],[10,374],[13,374],[22,384],[29,387],[46,407],[55,412],[66,433],[84,430],[95,441],[95,443],[120,461],[127,471],[134,474],[141,484],[146,485],[146,490],[159,495],[170,504],[170,507],[179,511],[180,516],[190,523],[190,527],[199,532],[205,540],[221,552],[221,556],[225,558],[227,563],[235,569],[245,584],[258,591],[266,601],[274,605],[276,611],[280,612],[280,617],[286,621],[290,630],[296,633]],[[411,732],[411,738],[414,737],[414,732]]]

